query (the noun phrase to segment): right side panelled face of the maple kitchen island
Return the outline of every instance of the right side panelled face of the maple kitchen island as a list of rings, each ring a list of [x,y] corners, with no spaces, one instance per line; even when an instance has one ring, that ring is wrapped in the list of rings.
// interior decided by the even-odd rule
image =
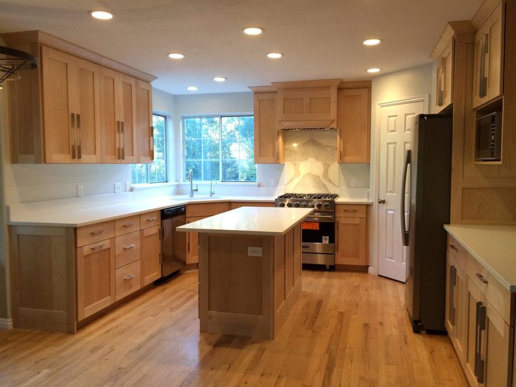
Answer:
[[[274,334],[301,294],[301,224],[274,240]]]

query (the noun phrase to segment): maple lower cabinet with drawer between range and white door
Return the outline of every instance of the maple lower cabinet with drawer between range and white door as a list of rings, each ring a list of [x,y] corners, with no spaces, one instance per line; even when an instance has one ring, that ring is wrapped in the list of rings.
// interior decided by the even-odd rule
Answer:
[[[369,265],[367,212],[367,205],[336,205],[336,269],[367,270]]]

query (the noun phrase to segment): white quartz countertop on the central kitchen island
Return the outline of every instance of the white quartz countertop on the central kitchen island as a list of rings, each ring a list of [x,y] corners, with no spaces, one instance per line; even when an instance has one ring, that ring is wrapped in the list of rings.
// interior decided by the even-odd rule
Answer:
[[[241,207],[179,226],[177,231],[278,236],[312,211],[311,208]]]

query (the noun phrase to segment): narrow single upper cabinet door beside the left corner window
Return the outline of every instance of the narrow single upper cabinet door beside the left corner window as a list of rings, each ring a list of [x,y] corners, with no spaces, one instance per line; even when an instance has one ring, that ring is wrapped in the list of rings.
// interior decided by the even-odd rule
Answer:
[[[138,163],[152,163],[154,161],[152,88],[150,83],[140,80],[136,83],[136,135]]]

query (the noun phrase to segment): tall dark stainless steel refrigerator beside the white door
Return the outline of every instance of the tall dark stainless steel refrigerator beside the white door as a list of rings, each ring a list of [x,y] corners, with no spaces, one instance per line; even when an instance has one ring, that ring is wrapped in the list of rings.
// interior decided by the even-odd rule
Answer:
[[[405,301],[414,332],[444,331],[451,116],[419,114],[405,153],[402,240],[408,246]],[[406,193],[406,194],[403,194]]]

